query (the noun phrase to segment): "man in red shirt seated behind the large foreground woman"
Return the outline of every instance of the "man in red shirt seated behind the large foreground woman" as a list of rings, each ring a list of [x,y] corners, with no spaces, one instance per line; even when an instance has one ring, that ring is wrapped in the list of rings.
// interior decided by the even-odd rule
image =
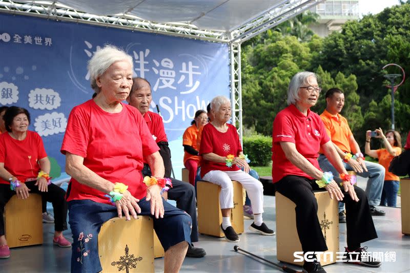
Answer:
[[[163,159],[165,166],[165,176],[171,177],[171,151],[168,146],[168,139],[165,133],[162,117],[156,113],[149,111],[152,101],[151,85],[144,78],[133,78],[133,85],[130,95],[127,98],[130,106],[139,110],[144,120],[147,122],[148,129],[152,134],[152,138],[155,140],[159,147],[159,154]],[[144,164],[142,170],[144,176],[151,176],[151,170],[148,164]],[[187,182],[183,182],[177,179],[171,178],[173,187],[168,191],[168,198],[176,200],[176,206],[183,211],[187,212],[192,218],[192,233],[191,241],[198,242],[198,224],[196,217],[196,205],[195,205],[195,188],[193,185]],[[163,194],[167,197],[167,192]],[[187,257],[201,258],[206,255],[203,248],[194,247],[193,244],[188,246]]]

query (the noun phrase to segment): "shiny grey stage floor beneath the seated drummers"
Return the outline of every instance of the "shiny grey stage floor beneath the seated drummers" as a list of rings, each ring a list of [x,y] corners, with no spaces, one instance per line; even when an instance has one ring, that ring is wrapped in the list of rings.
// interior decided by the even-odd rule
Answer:
[[[362,181],[360,181],[362,182]],[[365,187],[365,183],[359,186]],[[363,267],[335,263],[324,269],[329,272],[410,272],[410,236],[401,234],[400,208],[379,207],[386,216],[373,217],[378,239],[362,244],[368,246],[368,251],[395,252],[396,261],[383,262],[379,268]],[[276,229],[275,197],[265,196],[263,219],[269,227]],[[245,220],[245,233],[239,235],[240,242],[230,243],[224,239],[211,236],[199,236],[195,246],[207,251],[204,258],[186,258],[180,272],[279,272],[278,268],[245,256],[233,250],[235,244],[253,254],[278,263],[276,259],[276,235],[261,236],[248,230],[252,220]],[[0,260],[0,272],[69,272],[71,248],[53,246],[53,224],[44,224],[44,244],[39,246],[19,247],[11,249],[9,259]],[[64,235],[71,241],[70,230]],[[346,225],[340,224],[340,251],[343,251],[346,241]],[[287,264],[288,265],[288,264]],[[301,267],[288,265],[296,270]],[[163,271],[163,258],[155,259],[155,272]],[[116,271],[118,272],[118,271]],[[130,271],[132,272],[132,271]]]

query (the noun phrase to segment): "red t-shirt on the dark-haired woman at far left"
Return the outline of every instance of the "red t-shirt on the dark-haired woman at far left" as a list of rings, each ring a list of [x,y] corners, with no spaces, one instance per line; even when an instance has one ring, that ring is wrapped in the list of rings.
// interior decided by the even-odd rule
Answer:
[[[22,182],[37,179],[38,160],[47,157],[43,139],[33,131],[27,131],[24,140],[12,138],[7,132],[0,135],[0,162],[5,169]],[[0,178],[0,184],[10,184]]]

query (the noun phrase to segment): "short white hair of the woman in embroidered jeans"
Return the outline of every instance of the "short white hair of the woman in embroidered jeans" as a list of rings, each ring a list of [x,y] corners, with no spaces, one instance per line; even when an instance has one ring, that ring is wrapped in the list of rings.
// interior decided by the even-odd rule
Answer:
[[[90,74],[91,88],[94,89],[96,93],[99,93],[100,89],[95,79],[103,75],[116,61],[128,61],[131,64],[131,68],[133,68],[132,57],[124,50],[113,45],[105,45],[104,48],[98,49],[88,61],[87,69]]]

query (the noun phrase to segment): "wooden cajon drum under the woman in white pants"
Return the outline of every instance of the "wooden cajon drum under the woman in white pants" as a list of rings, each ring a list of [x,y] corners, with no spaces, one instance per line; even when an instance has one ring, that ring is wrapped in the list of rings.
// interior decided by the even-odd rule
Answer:
[[[234,207],[231,211],[231,223],[237,234],[243,233],[243,190],[238,181],[234,186]],[[216,237],[224,237],[220,225],[222,223],[219,193],[221,187],[206,181],[197,184],[198,231]]]

